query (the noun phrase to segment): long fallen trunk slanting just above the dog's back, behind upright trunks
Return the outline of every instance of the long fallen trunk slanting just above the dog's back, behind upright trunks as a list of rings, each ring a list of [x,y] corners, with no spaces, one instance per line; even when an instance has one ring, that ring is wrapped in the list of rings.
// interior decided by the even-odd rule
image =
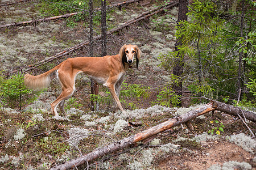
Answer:
[[[110,30],[107,32],[107,35],[111,35],[112,33],[116,32],[116,31],[119,31],[120,29],[123,29],[123,28],[129,26],[130,24],[133,24],[133,23],[135,23],[135,22],[139,22],[140,20],[143,20],[143,19],[145,19],[145,18],[148,18],[148,17],[150,17],[150,16],[152,16],[152,15],[155,15],[155,14],[157,14],[157,13],[163,11],[164,9],[167,9],[167,8],[170,8],[170,7],[174,7],[174,6],[176,6],[177,4],[178,4],[178,3],[171,2],[171,3],[169,3],[167,6],[162,6],[162,7],[160,7],[160,8],[154,8],[154,9],[151,10],[151,11],[144,12],[143,14],[137,16],[137,18],[131,19],[131,20],[129,20],[128,22],[122,24],[121,26],[119,26],[119,27],[117,27],[117,28],[110,29]],[[93,40],[98,40],[98,39],[100,39],[100,38],[101,38],[101,35],[98,35],[98,36],[93,37]],[[65,50],[63,50],[62,52],[59,52],[59,53],[55,54],[54,56],[51,56],[51,57],[49,57],[49,58],[47,58],[47,59],[44,59],[43,61],[41,61],[41,62],[39,62],[39,63],[37,63],[37,64],[35,64],[35,65],[32,65],[29,69],[27,69],[27,70],[25,70],[25,71],[23,71],[23,72],[26,73],[27,71],[33,70],[33,69],[35,69],[35,68],[38,67],[38,66],[44,65],[45,63],[48,63],[48,62],[50,62],[50,61],[53,61],[53,60],[56,59],[56,58],[62,57],[62,56],[64,56],[65,54],[71,53],[71,52],[73,52],[74,50],[79,49],[79,48],[81,48],[82,46],[88,45],[88,44],[89,44],[89,40],[88,40],[88,41],[85,41],[85,42],[81,42],[79,45],[73,46],[72,48],[69,48],[69,49],[65,49]]]

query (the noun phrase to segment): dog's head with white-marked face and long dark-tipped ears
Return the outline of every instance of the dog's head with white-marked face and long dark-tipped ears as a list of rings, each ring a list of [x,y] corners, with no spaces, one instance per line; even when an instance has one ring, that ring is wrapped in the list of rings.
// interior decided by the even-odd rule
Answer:
[[[139,50],[137,45],[123,45],[119,51],[120,56],[122,57],[123,66],[125,63],[131,65],[136,58],[136,67],[139,67],[139,59],[141,58],[141,50]]]

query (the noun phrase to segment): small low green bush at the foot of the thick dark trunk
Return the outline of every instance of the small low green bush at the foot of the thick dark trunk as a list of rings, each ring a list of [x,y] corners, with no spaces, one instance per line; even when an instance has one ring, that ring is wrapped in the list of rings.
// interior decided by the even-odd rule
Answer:
[[[177,95],[170,86],[163,86],[160,88],[157,99],[155,101],[152,101],[152,104],[159,104],[166,107],[176,107],[179,105],[180,96]]]

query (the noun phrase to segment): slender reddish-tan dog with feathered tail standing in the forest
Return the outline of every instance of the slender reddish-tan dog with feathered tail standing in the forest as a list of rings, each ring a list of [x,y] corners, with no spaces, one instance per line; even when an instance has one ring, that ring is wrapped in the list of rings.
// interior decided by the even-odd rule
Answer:
[[[115,101],[115,106],[117,105],[117,107],[124,112],[119,101],[121,85],[123,80],[125,80],[125,74],[129,65],[134,62],[134,58],[136,58],[136,66],[138,69],[140,57],[141,50],[139,50],[137,45],[123,45],[119,50],[119,54],[115,56],[68,58],[46,73],[36,76],[26,74],[24,75],[24,84],[34,90],[46,88],[51,81],[50,75],[57,70],[56,74],[60,80],[62,92],[60,96],[51,103],[51,108],[55,116],[58,116],[59,114],[56,108],[57,105],[59,105],[61,112],[66,116],[64,103],[76,90],[76,75],[85,73],[98,83],[108,87]]]

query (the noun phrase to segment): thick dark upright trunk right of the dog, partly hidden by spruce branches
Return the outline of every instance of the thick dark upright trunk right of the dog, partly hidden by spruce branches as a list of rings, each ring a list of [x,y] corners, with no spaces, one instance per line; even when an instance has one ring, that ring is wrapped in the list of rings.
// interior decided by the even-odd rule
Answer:
[[[184,20],[188,20],[188,16],[186,15],[188,12],[188,0],[179,0],[179,13],[178,13],[178,20],[177,22],[181,22]],[[180,24],[178,24],[179,26]],[[182,37],[180,39],[176,40],[175,43],[175,51],[178,51],[178,46],[182,44]],[[175,66],[173,70],[173,74],[176,76],[181,76],[183,74],[183,54],[178,53],[176,56]],[[182,93],[179,91],[182,91],[182,82],[183,79],[180,79],[177,84],[174,84],[173,88],[177,95],[182,96]]]

